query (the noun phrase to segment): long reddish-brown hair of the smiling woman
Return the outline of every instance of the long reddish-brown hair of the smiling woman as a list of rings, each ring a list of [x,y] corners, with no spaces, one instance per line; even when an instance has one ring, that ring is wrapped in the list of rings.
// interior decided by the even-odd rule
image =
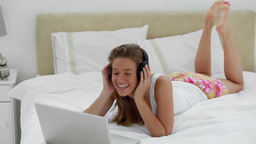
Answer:
[[[115,47],[108,56],[108,62],[112,66],[113,61],[118,57],[131,58],[138,67],[143,61],[143,53],[141,48],[136,44],[125,44]],[[132,107],[132,103],[135,101],[129,96],[121,97],[117,90],[113,92],[115,99],[117,100],[113,109],[118,106],[117,115],[114,116],[113,122],[117,122],[118,125],[131,126],[131,124],[144,125],[144,121],[139,115],[137,107]],[[112,110],[113,110],[112,109]]]

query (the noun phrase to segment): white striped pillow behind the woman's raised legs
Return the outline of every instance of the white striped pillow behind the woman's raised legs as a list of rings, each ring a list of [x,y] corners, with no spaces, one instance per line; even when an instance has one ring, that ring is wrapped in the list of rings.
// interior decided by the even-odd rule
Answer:
[[[152,73],[194,72],[202,31],[144,40],[142,47],[148,53]],[[216,27],[212,28],[211,58],[212,75],[224,73],[224,52]]]

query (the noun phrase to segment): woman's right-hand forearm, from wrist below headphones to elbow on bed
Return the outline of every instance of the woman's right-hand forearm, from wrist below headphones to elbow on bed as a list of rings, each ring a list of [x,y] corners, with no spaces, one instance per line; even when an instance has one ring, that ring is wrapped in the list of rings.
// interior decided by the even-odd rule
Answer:
[[[154,115],[146,101],[144,99],[135,100],[135,103],[152,137],[166,136],[164,125]]]

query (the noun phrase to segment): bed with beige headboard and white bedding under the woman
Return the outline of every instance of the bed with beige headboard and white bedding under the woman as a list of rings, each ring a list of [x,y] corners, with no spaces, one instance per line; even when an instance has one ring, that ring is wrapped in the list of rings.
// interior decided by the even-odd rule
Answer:
[[[176,41],[180,41],[180,43],[183,44],[186,42],[185,40],[189,41],[194,37],[199,39],[205,14],[206,11],[133,11],[121,13],[38,15],[37,62],[38,74],[40,76],[21,82],[8,93],[10,97],[21,100],[21,144],[45,143],[34,107],[35,101],[82,112],[98,97],[103,88],[100,70],[103,68],[102,65],[106,63],[94,65],[95,67],[90,70],[87,62],[89,61],[89,64],[91,63],[91,65],[93,65],[94,60],[83,59],[82,57],[81,61],[86,63],[86,67],[79,67],[81,64],[79,61],[75,64],[77,69],[73,71],[74,67],[72,63],[74,62],[74,53],[79,51],[72,49],[73,51],[68,54],[68,60],[65,58],[56,58],[55,56],[59,53],[53,50],[53,47],[57,49],[55,47],[56,41],[53,41],[60,40],[61,36],[54,36],[51,35],[51,33],[60,34],[58,32],[67,32],[65,34],[68,39],[70,38],[68,35],[75,32],[110,32],[125,28],[148,28],[146,33],[147,37],[142,34],[141,40],[133,41],[143,47],[146,47],[147,44],[158,44],[158,50],[165,51],[165,46],[160,46],[160,43],[164,43],[161,41],[166,37],[171,37],[171,39],[175,41],[173,46],[181,45],[176,45]],[[146,126],[141,127],[136,124],[132,125],[132,127],[117,126],[117,124],[110,121],[115,111],[109,111],[105,116],[109,119],[110,132],[139,139],[141,143],[255,143],[256,73],[253,73],[255,69],[255,12],[247,10],[231,11],[230,26],[243,68],[245,86],[242,91],[202,101],[194,105],[191,109],[176,115],[174,117],[172,134],[168,136],[151,137]],[[141,29],[139,30],[140,32],[142,31]],[[128,29],[128,31],[133,30]],[[125,33],[127,33],[127,29]],[[131,38],[133,38],[132,33],[130,35]],[[145,34],[144,30],[143,33]],[[86,34],[88,35],[88,33]],[[73,35],[72,39],[74,40],[74,38],[75,36]],[[216,32],[214,38],[218,40]],[[59,43],[60,41],[57,42]],[[216,44],[213,44],[213,47],[221,45],[221,41],[222,39],[220,37],[219,44],[217,44],[217,41]],[[198,41],[196,42],[198,43]],[[75,44],[78,44],[78,42],[75,41],[72,43],[66,41],[65,43],[67,43],[65,45],[68,46],[73,44],[73,47],[77,46]],[[102,42],[98,41],[98,43]],[[185,46],[193,47],[197,43],[189,41]],[[188,47],[184,48],[183,46],[183,48],[181,47],[176,50],[184,53],[184,49],[188,49]],[[67,49],[70,50],[69,48],[70,47]],[[90,47],[84,46],[83,49],[85,51],[84,55],[88,55],[86,57],[90,57],[90,52],[95,52],[92,51]],[[164,55],[164,52],[161,55],[155,55],[152,47],[147,47],[147,49],[149,59],[153,59],[151,62],[152,65],[155,65],[155,73],[169,73],[173,71],[173,69],[169,68],[166,64],[166,61],[170,61],[170,59]],[[212,51],[217,55],[221,52],[220,50],[221,49]],[[106,51],[108,51],[108,49]],[[196,49],[189,49],[189,51],[195,52]],[[91,57],[95,58],[98,55],[101,56],[104,54],[105,57],[103,57],[103,59],[106,60],[104,50],[97,52],[97,55]],[[63,52],[62,54],[66,55],[66,53],[67,52]],[[73,57],[71,57],[71,55]],[[172,58],[177,59],[178,57],[172,55]],[[157,62],[155,62],[156,59],[158,59]],[[219,56],[216,59],[212,61],[212,77],[225,78],[223,65],[218,63],[217,65],[220,65],[220,67],[218,67],[214,64],[223,61],[223,57],[221,58],[221,56]],[[66,60],[68,61],[69,67],[61,69],[59,64],[61,61],[66,62]],[[78,61],[78,59],[75,60]],[[59,61],[59,63],[57,61]],[[95,61],[97,61],[97,59]],[[64,65],[65,62],[63,62]],[[183,65],[183,67],[186,68],[187,66],[190,68],[187,63]],[[179,69],[179,67],[176,68],[175,70],[179,71],[187,70]]]

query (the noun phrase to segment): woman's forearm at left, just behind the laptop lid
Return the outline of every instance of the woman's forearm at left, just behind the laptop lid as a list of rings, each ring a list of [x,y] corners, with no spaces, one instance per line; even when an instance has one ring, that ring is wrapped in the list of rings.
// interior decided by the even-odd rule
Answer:
[[[88,107],[88,109],[84,110],[84,112],[103,117],[113,105],[114,101],[115,99],[112,95],[108,95],[102,91],[100,96],[91,104],[90,107]]]

